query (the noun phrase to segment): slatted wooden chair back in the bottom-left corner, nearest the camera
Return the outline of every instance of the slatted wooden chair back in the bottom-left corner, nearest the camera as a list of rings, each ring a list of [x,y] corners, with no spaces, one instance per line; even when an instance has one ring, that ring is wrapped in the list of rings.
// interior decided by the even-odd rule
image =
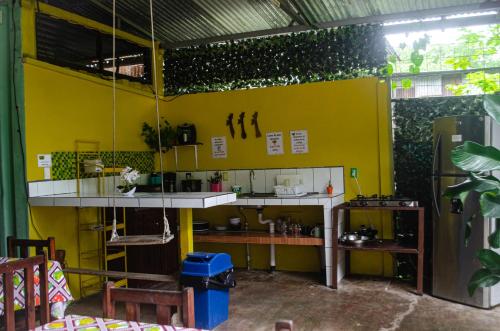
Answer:
[[[0,275],[3,280],[4,290],[4,320],[6,331],[14,331],[16,329],[14,312],[14,274],[18,270],[24,270],[25,329],[32,330],[35,328],[35,266],[39,266],[40,322],[41,324],[49,322],[47,256],[44,254],[0,264]]]

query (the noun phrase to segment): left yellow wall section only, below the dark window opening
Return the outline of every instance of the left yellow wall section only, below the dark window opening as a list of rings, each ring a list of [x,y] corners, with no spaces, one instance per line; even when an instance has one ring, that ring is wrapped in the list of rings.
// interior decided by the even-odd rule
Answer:
[[[36,61],[25,63],[24,74],[29,181],[43,179],[43,169],[37,167],[37,154],[74,151],[76,139],[97,140],[102,150],[112,149],[112,90],[108,82]],[[152,96],[118,89],[117,107],[117,149],[148,150],[140,132],[142,122],[155,119]],[[80,212],[83,221],[96,219],[94,208]],[[57,249],[66,250],[68,264],[76,267],[76,217],[76,208],[34,207],[32,222],[36,230],[31,223],[30,237],[54,236]],[[97,242],[95,235],[85,235],[84,248],[92,248]],[[79,296],[77,282],[77,276],[70,276],[76,297]]]

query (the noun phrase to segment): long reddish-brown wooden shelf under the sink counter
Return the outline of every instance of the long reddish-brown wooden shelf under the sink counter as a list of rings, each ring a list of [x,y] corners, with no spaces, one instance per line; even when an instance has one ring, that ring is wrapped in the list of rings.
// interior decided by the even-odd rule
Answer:
[[[293,246],[323,246],[325,240],[310,236],[286,236],[266,232],[217,232],[194,233],[197,243],[225,244],[260,244],[260,245],[293,245]]]

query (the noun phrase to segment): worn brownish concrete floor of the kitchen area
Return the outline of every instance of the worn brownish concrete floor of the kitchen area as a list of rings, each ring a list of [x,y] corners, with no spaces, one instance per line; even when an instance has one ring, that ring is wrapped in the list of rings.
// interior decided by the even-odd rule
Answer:
[[[319,284],[315,275],[237,271],[229,320],[216,328],[273,330],[278,319],[292,319],[296,330],[500,330],[500,307],[472,308],[424,295],[407,284],[349,278],[339,290]],[[100,296],[72,304],[67,313],[101,315]],[[142,314],[154,321],[152,309]]]

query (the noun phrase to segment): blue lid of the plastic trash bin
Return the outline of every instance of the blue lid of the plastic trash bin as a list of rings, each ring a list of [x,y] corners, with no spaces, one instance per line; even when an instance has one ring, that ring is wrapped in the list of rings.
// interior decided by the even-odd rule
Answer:
[[[229,254],[193,252],[182,263],[181,275],[212,277],[232,268]]]

